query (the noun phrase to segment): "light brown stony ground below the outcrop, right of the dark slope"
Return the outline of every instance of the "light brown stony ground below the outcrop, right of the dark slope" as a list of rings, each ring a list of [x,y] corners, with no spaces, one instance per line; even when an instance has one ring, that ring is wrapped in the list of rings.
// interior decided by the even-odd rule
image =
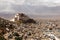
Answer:
[[[4,34],[4,37],[7,40],[59,40],[60,28],[58,23],[60,22],[50,20],[39,20],[35,24],[21,23]]]

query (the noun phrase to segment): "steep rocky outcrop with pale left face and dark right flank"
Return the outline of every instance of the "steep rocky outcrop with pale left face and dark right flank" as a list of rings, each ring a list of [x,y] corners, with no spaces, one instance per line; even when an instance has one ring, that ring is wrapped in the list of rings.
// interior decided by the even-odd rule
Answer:
[[[23,23],[36,23],[35,20],[29,18],[27,15],[23,13],[18,13],[15,15],[15,21],[22,21]]]

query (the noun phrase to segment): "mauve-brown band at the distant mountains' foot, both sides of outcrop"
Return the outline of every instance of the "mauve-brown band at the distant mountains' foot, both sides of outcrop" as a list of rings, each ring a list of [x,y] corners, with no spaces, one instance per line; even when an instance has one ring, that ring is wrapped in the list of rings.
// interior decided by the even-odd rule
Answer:
[[[7,20],[11,20],[12,18],[14,18],[16,13],[8,13],[8,14],[4,14],[4,13],[1,13],[0,14],[0,17],[4,18],[4,19],[7,19]],[[29,15],[29,14],[26,14],[28,15],[30,18],[37,18],[37,19],[40,19],[40,18],[50,18],[50,19],[60,19],[60,15]]]

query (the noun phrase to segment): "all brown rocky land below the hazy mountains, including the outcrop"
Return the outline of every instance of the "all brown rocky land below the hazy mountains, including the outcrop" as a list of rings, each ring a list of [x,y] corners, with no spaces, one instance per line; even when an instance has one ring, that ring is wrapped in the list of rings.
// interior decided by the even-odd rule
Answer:
[[[17,14],[14,19],[11,21],[0,19],[0,24],[6,25],[3,26],[4,29],[0,28],[3,40],[60,40],[60,20],[31,19],[24,14]],[[4,34],[1,34],[3,32]]]

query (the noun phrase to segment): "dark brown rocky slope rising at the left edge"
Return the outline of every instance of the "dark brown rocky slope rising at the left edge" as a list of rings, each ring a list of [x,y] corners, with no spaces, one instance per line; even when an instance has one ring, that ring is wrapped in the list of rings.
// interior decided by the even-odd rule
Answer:
[[[7,31],[10,31],[14,27],[14,22],[0,17],[0,34],[5,34]]]

